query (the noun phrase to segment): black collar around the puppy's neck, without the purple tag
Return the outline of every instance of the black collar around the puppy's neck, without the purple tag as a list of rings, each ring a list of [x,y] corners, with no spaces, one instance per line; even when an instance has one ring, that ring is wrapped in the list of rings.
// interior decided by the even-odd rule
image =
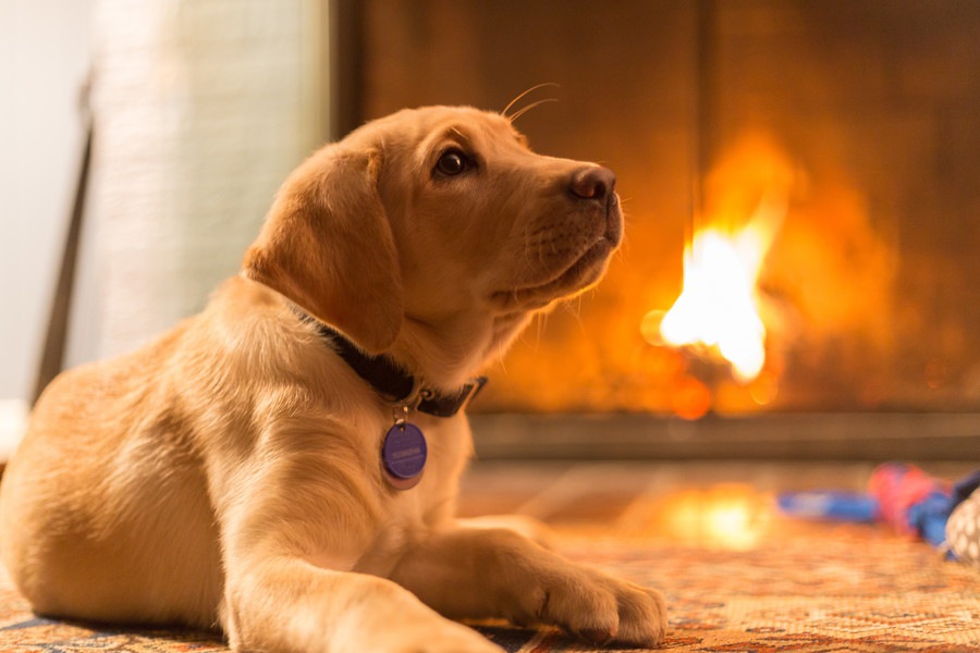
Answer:
[[[320,337],[327,341],[338,356],[358,377],[367,381],[381,398],[394,406],[419,410],[436,417],[452,417],[465,408],[487,384],[486,377],[477,377],[470,379],[452,394],[425,387],[418,379],[402,369],[390,357],[365,354],[329,324],[324,324],[298,308],[294,307],[293,310],[301,320],[316,326]]]

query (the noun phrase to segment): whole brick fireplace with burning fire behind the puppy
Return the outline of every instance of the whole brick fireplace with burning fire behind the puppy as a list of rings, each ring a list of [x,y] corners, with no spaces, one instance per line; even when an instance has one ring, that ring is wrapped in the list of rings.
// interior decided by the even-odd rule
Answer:
[[[487,455],[980,452],[972,0],[336,10],[336,131],[549,84],[531,146],[617,173],[623,251],[491,369]]]

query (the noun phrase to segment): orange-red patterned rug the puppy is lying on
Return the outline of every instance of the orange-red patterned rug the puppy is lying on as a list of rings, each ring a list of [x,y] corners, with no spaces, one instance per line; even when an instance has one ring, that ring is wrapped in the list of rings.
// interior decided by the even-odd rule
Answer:
[[[980,571],[874,527],[819,525],[745,551],[589,530],[562,529],[560,550],[663,591],[669,651],[980,653]],[[479,629],[514,653],[596,651],[552,630]],[[0,572],[0,651],[225,650],[215,633],[35,617]]]

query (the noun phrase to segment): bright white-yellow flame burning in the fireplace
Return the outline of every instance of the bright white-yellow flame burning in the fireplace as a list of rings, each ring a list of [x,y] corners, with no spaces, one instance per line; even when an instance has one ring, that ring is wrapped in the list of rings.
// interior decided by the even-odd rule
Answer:
[[[706,226],[684,250],[684,285],[660,323],[672,347],[703,347],[748,383],[765,364],[765,325],[759,315],[757,283],[765,254],[786,213],[782,197],[763,196],[740,230]]]

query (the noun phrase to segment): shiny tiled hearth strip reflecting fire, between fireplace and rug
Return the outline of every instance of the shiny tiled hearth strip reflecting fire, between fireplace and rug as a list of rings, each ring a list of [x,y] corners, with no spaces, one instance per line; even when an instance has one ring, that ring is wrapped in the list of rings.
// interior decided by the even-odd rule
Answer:
[[[775,495],[806,490],[863,491],[869,464],[482,463],[467,473],[461,514],[516,513],[559,532],[648,539],[675,545],[749,551],[779,542],[893,535],[878,526],[807,522],[779,514]],[[957,478],[968,464],[934,464]]]

